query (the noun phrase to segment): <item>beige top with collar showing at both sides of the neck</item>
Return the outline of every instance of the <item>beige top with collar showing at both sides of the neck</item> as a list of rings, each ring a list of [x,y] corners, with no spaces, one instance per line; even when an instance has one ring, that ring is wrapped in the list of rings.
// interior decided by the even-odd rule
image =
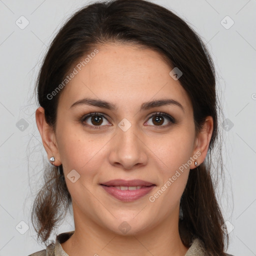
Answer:
[[[56,235],[55,244],[50,243],[46,249],[34,252],[28,256],[68,256],[68,254],[63,250],[60,243],[66,241],[74,231],[64,232]],[[184,256],[203,256],[203,245],[202,242],[196,238],[193,240],[191,246],[187,250]]]

